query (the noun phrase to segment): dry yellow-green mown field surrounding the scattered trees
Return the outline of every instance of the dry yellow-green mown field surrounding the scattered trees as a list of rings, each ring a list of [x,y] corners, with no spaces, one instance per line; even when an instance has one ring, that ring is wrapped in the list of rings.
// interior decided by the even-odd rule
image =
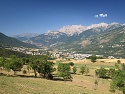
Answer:
[[[121,59],[122,63],[124,61],[124,59]],[[58,62],[74,62],[74,66],[77,67],[77,73],[72,74],[72,82],[27,77],[29,74],[26,74],[24,77],[0,76],[0,94],[122,94],[118,90],[115,93],[109,91],[111,79],[102,79],[95,76],[95,69],[97,68],[115,68],[114,64],[117,62],[117,59],[100,59],[96,63],[92,63],[89,60],[56,60],[54,62],[55,67],[57,67]],[[84,65],[90,69],[87,76],[79,73],[79,67]],[[13,73],[10,72],[10,74]],[[22,75],[22,72],[18,74]],[[30,73],[31,75],[33,73]],[[94,81],[96,79],[99,82],[95,90]]]

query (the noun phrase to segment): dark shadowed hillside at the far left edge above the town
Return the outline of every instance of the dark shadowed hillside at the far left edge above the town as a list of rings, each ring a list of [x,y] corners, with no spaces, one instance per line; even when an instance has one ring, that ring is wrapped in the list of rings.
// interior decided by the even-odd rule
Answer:
[[[0,45],[3,46],[24,46],[24,47],[36,47],[35,45],[23,43],[15,38],[8,37],[3,33],[0,33]]]

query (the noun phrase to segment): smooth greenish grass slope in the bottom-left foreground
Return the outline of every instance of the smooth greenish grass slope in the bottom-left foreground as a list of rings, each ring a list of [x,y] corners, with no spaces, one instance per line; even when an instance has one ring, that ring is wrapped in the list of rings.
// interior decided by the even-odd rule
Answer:
[[[80,94],[83,92],[82,88],[76,86],[40,78],[0,76],[0,94]]]

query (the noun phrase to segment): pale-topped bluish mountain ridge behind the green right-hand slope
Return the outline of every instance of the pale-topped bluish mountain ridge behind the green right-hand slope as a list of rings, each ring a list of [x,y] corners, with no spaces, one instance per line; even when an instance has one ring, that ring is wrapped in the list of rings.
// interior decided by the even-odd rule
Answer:
[[[121,26],[123,25],[119,23],[99,23],[93,24],[91,26],[64,26],[63,28],[57,31],[48,31],[39,36],[30,38],[30,40],[27,42],[52,47],[58,44],[79,41],[81,39],[89,38],[94,35],[99,35],[104,32],[106,33]]]

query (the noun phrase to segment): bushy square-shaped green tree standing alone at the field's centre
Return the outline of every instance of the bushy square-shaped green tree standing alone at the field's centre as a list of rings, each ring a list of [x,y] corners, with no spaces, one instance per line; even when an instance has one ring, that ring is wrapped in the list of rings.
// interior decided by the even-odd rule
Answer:
[[[63,77],[64,81],[67,79],[72,79],[70,73],[70,65],[69,63],[59,63],[58,65],[58,74],[60,77]]]

